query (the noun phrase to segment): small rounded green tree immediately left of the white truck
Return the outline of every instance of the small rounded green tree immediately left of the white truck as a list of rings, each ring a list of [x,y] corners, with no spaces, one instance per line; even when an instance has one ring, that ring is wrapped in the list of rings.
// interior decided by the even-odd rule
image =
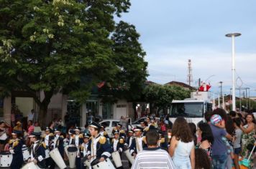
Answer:
[[[184,100],[190,96],[190,90],[176,85],[149,84],[143,91],[145,101],[159,112],[167,109],[173,100]]]

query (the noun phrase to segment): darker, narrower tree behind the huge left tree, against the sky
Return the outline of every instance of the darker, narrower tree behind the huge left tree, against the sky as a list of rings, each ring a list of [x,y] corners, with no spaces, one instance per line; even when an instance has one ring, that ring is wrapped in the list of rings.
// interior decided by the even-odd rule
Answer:
[[[147,77],[145,52],[139,42],[135,26],[120,21],[111,36],[114,63],[118,69],[108,85],[101,89],[103,102],[116,102],[119,98],[136,100],[141,97]]]

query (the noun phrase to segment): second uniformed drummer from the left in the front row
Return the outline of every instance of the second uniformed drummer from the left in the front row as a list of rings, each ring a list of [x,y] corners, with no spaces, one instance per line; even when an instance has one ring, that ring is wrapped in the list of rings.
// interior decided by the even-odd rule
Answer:
[[[41,132],[32,132],[29,135],[30,141],[32,142],[30,150],[30,158],[28,162],[34,162],[39,168],[46,168],[45,165],[45,148],[40,142]]]

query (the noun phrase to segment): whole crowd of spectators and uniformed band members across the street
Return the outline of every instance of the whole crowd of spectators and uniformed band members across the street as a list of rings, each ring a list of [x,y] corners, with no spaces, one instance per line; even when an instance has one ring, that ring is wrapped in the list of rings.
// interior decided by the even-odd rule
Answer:
[[[121,123],[126,124],[122,120]],[[31,150],[27,162],[40,168],[55,168],[56,161],[48,153],[56,148],[66,163],[69,161],[67,152],[75,150],[78,169],[91,168],[111,158],[114,160],[113,153],[119,154],[121,159],[125,154],[132,169],[229,169],[232,165],[239,169],[240,157],[250,160],[247,168],[255,167],[255,153],[252,151],[256,122],[252,114],[227,113],[217,108],[206,112],[204,122],[196,125],[183,117],[177,117],[172,125],[166,119],[147,117],[132,130],[122,124],[116,124],[112,135],[108,135],[104,126],[97,122],[92,122],[83,131],[71,126],[66,133],[59,130],[59,122],[50,122],[44,130],[32,120],[29,120],[27,129],[23,129],[19,121],[12,129],[0,122],[0,151],[12,153],[11,168],[24,165],[24,145]],[[171,137],[168,137],[168,132],[171,132]],[[115,160],[113,163],[117,168],[124,168],[122,163],[116,164]]]

